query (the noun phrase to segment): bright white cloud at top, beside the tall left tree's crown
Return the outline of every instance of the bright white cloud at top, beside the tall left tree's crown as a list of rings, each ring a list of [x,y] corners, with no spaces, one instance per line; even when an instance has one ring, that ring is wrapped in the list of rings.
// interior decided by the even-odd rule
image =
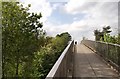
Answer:
[[[29,12],[42,13],[41,21],[47,21],[47,18],[52,13],[52,7],[47,0],[20,0],[26,7],[28,4],[31,4]]]

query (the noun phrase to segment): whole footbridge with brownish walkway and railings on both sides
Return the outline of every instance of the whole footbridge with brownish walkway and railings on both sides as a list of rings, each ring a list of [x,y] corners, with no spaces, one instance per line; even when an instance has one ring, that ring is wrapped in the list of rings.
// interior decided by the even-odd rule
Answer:
[[[70,41],[46,79],[120,79],[120,45]]]

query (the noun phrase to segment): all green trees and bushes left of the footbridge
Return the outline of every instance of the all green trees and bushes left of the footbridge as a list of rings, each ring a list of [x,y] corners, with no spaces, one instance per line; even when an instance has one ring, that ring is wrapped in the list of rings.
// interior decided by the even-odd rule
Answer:
[[[15,2],[2,3],[2,76],[44,79],[71,40],[68,32],[49,37],[41,13]]]

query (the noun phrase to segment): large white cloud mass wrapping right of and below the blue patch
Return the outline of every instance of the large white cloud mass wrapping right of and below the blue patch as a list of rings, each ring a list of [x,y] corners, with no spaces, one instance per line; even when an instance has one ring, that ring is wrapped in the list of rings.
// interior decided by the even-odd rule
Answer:
[[[94,40],[95,29],[101,29],[105,25],[110,25],[113,28],[113,34],[116,32],[114,28],[118,26],[118,6],[114,2],[76,2],[70,0],[65,5],[65,10],[70,14],[85,13],[82,20],[74,20],[70,24],[59,25],[54,27],[54,24],[49,28],[51,34],[57,34],[68,31],[74,39],[81,40],[83,36]],[[77,17],[75,17],[76,19]]]

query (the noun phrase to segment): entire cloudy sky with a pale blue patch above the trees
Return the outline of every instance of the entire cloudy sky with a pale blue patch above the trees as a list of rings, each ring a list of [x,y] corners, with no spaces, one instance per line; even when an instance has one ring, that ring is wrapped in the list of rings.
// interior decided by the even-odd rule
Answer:
[[[29,12],[42,13],[41,22],[47,35],[69,32],[78,42],[86,37],[94,40],[94,30],[111,26],[111,35],[118,33],[119,0],[20,0]]]

